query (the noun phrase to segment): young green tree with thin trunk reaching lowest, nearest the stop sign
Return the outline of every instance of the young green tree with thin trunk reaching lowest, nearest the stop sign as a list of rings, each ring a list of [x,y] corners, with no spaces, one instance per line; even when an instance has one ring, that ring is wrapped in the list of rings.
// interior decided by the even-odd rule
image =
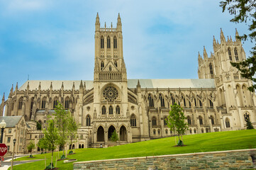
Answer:
[[[55,121],[54,120],[48,120],[48,128],[47,130],[43,131],[45,137],[41,141],[40,146],[42,148],[47,148],[52,152],[52,158],[53,158],[53,151],[56,149],[57,145],[59,145],[60,137],[58,134],[58,130],[55,127]],[[51,159],[51,169],[52,169],[52,159]]]

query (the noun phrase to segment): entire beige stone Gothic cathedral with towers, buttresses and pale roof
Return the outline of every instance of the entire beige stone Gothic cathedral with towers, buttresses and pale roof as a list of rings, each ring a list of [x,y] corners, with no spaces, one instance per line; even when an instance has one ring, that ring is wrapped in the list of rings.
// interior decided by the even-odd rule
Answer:
[[[238,31],[235,30],[235,36]],[[213,37],[213,53],[198,55],[199,79],[127,79],[123,34],[118,14],[116,27],[95,22],[94,80],[29,80],[2,98],[0,115],[21,116],[26,139],[43,137],[36,122],[46,128],[57,101],[79,123],[72,147],[108,147],[116,130],[118,145],[174,135],[165,120],[174,103],[184,108],[186,134],[245,129],[245,116],[256,125],[256,96],[247,90],[252,81],[240,76],[230,62],[245,60],[238,38]],[[5,109],[4,109],[5,108]],[[70,145],[71,146],[71,145]],[[69,147],[70,147],[69,146]]]

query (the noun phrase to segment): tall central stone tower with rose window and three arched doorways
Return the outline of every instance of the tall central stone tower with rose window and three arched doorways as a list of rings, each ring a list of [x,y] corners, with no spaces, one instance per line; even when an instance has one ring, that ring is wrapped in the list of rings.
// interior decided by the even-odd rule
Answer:
[[[126,64],[123,60],[123,35],[118,13],[116,28],[103,28],[97,13],[94,58],[94,147],[106,145],[113,130],[131,142]],[[99,146],[98,146],[99,147]]]

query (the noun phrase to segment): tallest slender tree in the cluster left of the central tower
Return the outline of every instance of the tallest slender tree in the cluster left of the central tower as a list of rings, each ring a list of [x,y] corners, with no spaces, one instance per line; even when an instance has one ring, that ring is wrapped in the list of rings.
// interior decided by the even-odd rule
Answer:
[[[67,136],[69,135],[69,111],[66,111],[65,108],[62,106],[61,103],[58,102],[56,108],[55,108],[55,123],[57,126],[58,134],[59,134],[59,144],[60,147],[62,147],[63,154],[62,159],[65,159],[65,145],[67,143]]]

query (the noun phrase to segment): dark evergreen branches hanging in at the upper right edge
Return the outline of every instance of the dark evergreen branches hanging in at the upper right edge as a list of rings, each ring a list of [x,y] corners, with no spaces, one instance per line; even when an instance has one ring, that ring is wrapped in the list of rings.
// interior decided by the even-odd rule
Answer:
[[[238,36],[240,40],[247,40],[250,38],[251,42],[256,40],[256,1],[255,0],[226,0],[221,1],[220,6],[223,12],[227,9],[230,15],[234,18],[230,20],[233,23],[248,23],[248,30],[251,31],[248,35]],[[251,57],[248,57],[242,62],[230,62],[231,65],[241,72],[241,76],[252,80],[254,84],[248,88],[249,91],[254,92],[256,89],[256,44],[250,51]]]

